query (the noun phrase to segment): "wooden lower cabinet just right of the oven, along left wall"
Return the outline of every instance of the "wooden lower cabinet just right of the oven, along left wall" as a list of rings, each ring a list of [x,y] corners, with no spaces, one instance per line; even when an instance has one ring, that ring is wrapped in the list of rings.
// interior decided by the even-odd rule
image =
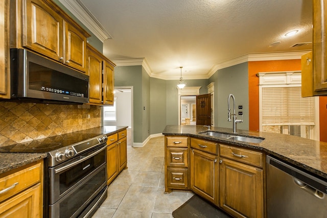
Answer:
[[[108,136],[107,184],[109,185],[123,169],[127,168],[127,131]]]

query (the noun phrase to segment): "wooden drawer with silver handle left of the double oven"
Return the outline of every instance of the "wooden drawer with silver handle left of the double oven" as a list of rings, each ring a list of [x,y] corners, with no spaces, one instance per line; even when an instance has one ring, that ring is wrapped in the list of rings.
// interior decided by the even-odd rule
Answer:
[[[42,161],[14,169],[0,178],[0,191],[4,191],[0,194],[0,202],[40,182],[43,175]]]

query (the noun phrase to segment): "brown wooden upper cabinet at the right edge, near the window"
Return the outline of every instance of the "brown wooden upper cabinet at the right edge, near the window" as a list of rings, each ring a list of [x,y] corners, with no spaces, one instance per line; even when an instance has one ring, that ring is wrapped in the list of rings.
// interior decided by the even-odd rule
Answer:
[[[302,97],[327,95],[326,0],[313,0],[312,56],[302,56]],[[304,75],[304,78],[303,78]]]

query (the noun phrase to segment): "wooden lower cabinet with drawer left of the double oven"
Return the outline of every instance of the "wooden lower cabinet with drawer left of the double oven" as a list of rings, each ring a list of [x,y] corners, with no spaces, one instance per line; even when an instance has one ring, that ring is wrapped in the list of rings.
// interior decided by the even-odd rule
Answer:
[[[43,160],[0,175],[0,217],[42,217]]]

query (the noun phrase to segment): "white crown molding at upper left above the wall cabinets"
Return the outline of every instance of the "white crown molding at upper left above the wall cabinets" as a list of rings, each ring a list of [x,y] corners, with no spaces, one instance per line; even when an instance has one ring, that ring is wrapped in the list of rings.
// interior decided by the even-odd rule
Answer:
[[[112,39],[111,35],[104,29],[97,18],[92,15],[92,13],[83,5],[83,3],[81,3],[80,0],[58,1],[102,42],[104,42],[106,39]]]

